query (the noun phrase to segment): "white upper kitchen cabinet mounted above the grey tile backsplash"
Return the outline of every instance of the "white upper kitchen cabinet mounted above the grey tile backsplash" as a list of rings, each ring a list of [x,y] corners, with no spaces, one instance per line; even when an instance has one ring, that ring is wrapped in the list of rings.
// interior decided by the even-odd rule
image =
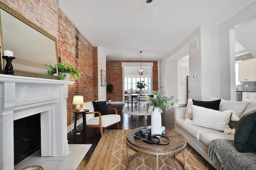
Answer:
[[[238,62],[238,81],[256,81],[256,59]]]

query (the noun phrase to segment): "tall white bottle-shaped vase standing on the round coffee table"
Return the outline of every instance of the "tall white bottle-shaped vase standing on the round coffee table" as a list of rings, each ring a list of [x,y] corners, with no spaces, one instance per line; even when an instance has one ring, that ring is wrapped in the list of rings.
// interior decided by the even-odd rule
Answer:
[[[151,114],[151,135],[162,135],[162,115],[158,108]]]

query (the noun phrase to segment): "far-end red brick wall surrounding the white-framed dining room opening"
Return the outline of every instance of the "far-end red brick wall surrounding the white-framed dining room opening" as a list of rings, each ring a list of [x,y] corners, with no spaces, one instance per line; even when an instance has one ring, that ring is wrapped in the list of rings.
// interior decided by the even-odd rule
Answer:
[[[107,84],[112,83],[114,91],[110,94],[112,102],[122,102],[122,62],[140,62],[140,61],[106,61]],[[153,90],[158,90],[158,61],[144,61],[153,63]],[[143,61],[142,61],[143,63]],[[107,96],[109,98],[109,96]]]

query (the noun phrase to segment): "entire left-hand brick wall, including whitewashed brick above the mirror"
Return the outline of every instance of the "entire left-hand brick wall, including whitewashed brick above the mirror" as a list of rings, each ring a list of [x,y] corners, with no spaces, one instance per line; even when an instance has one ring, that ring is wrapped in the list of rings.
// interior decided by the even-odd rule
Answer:
[[[84,96],[84,101],[94,100],[94,48],[58,8],[57,0],[2,0],[19,14],[57,38],[61,61],[75,64],[83,70],[79,80],[68,86],[67,126],[71,125],[74,110],[73,96]],[[74,115],[72,117],[74,122]]]

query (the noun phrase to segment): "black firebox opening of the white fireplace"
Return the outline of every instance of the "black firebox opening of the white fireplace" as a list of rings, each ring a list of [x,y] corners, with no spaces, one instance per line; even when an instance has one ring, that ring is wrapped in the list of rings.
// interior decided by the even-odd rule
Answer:
[[[14,121],[14,165],[41,149],[40,113]]]

